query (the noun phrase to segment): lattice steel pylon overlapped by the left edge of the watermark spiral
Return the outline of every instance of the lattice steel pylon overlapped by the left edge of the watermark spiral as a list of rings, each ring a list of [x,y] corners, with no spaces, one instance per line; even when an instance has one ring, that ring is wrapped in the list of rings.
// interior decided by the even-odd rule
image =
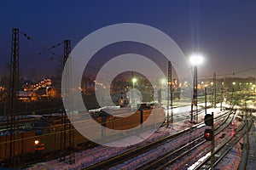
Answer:
[[[63,68],[64,65],[68,64],[71,66],[70,62],[67,62],[68,57],[70,57],[71,53],[71,42],[70,40],[64,41],[64,57],[63,57]],[[69,67],[70,68],[70,67]],[[66,77],[62,77],[66,79],[66,84],[64,87],[61,87],[61,90],[63,90],[62,94],[64,94],[62,97],[64,100],[67,99],[67,95],[71,97],[73,94],[72,89],[70,88],[69,82],[72,81],[72,74],[70,69],[63,70],[66,72]],[[72,99],[72,98],[71,98]],[[67,103],[67,102],[66,102]],[[74,155],[74,128],[72,123],[69,121],[67,114],[70,117],[73,117],[72,113],[72,107],[73,102],[68,101],[68,108],[69,111],[66,109],[61,114],[61,152],[62,156],[60,161],[67,161],[69,164],[73,164],[75,162],[75,155]]]

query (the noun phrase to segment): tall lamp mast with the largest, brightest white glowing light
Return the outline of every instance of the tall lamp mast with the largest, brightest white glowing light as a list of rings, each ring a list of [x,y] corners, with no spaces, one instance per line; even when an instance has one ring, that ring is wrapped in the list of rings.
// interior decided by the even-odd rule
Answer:
[[[192,54],[189,57],[189,62],[194,65],[194,79],[193,79],[193,97],[191,103],[191,121],[193,121],[193,107],[195,105],[195,116],[196,121],[198,121],[198,110],[197,110],[197,65],[203,62],[203,57],[201,54]]]

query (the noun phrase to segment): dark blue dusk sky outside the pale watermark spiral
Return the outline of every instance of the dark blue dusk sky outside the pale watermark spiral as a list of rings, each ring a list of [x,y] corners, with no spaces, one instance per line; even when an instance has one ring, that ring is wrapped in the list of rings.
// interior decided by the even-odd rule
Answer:
[[[255,1],[5,1],[0,6],[0,71],[6,71],[11,29],[17,27],[50,48],[64,39],[73,47],[103,26],[133,22],[166,32],[185,55],[205,54],[199,75],[225,74],[256,66]],[[20,35],[20,73],[54,75],[61,60]],[[62,46],[53,50],[61,55]],[[52,61],[50,58],[54,57]],[[34,68],[34,69],[33,69]],[[31,72],[32,73],[28,73]],[[237,76],[256,76],[256,70]]]

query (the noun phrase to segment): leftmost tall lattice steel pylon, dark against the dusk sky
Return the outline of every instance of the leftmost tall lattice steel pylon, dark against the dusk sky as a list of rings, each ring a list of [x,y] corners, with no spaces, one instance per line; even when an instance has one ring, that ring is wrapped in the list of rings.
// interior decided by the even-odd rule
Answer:
[[[7,115],[7,129],[9,135],[6,135],[5,158],[9,160],[11,167],[19,167],[20,165],[20,148],[19,142],[15,142],[15,133],[19,129],[19,116],[16,116],[19,95],[19,29],[12,30],[12,47],[10,56],[10,72],[9,72],[9,102]]]

